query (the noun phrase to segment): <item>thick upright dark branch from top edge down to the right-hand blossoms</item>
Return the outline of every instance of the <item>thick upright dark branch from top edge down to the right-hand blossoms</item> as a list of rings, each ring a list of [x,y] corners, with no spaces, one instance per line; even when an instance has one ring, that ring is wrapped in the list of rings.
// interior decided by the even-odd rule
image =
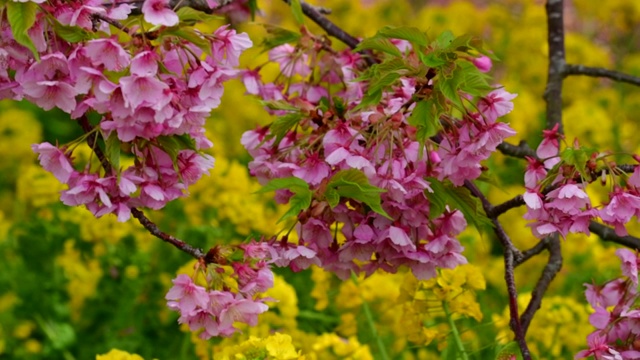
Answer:
[[[549,43],[549,71],[544,100],[547,102],[547,129],[562,126],[562,80],[565,67],[564,50],[564,1],[547,0],[547,41]]]

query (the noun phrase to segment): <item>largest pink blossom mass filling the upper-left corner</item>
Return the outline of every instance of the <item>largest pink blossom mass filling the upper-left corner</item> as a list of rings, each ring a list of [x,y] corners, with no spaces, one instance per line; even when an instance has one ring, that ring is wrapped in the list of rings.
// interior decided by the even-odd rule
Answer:
[[[106,171],[78,163],[72,146],[33,145],[42,166],[69,186],[62,201],[125,221],[133,206],[158,209],[184,196],[214,164],[200,151],[212,145],[203,125],[220,104],[223,83],[236,76],[240,54],[252,46],[249,37],[228,26],[213,34],[185,28],[200,40],[197,46],[171,32],[179,17],[168,0],[145,1],[141,10],[154,28],[117,30],[125,35],[112,35],[110,23],[129,16],[133,7],[126,2],[37,3],[28,35],[39,60],[14,40],[6,13],[0,25],[0,98],[59,108],[73,119],[98,114],[95,131],[109,139],[107,147],[120,149],[118,159],[121,152],[134,159],[120,169],[107,151],[114,168]],[[65,41],[56,34],[58,23],[85,39]]]

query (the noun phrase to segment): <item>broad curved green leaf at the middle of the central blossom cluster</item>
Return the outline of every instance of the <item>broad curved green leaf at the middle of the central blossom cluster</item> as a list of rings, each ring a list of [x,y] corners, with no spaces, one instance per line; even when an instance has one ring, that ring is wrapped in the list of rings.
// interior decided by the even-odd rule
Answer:
[[[386,190],[369,184],[366,175],[360,170],[341,170],[331,177],[327,184],[327,190],[325,190],[325,197],[329,192],[327,202],[329,205],[333,203],[332,207],[334,207],[338,205],[338,201],[335,201],[336,196],[332,191],[335,191],[340,197],[360,201],[376,213],[393,220],[380,205],[380,193],[386,192]]]

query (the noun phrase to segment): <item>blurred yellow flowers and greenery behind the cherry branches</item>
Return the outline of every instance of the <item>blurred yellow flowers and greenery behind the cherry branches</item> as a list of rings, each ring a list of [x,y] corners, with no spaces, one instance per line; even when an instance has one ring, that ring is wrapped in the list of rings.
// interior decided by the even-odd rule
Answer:
[[[481,37],[500,58],[491,72],[495,83],[518,94],[515,110],[505,120],[518,131],[509,141],[527,140],[532,147],[539,143],[547,73],[543,1],[310,2],[331,9],[330,18],[358,37],[371,36],[385,25],[416,26],[433,38],[444,30]],[[569,63],[640,76],[640,2],[565,2]],[[262,24],[295,30],[284,2],[258,5],[261,14],[255,21],[238,25],[254,44],[262,41]],[[342,45],[334,40],[334,46]],[[268,60],[259,46],[243,59],[246,66]],[[264,71],[275,76],[277,68]],[[564,83],[563,102],[569,143],[577,137],[601,150],[639,151],[638,89],[571,77]],[[193,186],[189,197],[148,215],[164,231],[202,248],[278,232],[275,223],[283,209],[269,196],[253,194],[259,187],[247,173],[249,156],[239,142],[244,131],[271,121],[257,99],[244,95],[241,83],[227,84],[222,105],[207,124],[215,144],[211,176]],[[222,359],[250,335],[265,337],[275,331],[291,335],[307,359],[380,359],[377,338],[389,358],[434,359],[450,346],[451,329],[442,309],[431,306],[428,296],[421,298],[420,291],[424,295],[429,286],[454,286],[460,277],[474,293],[468,305],[475,310],[456,318],[469,356],[493,358],[496,349],[511,340],[502,251],[490,233],[475,229],[461,237],[474,267],[443,273],[437,284],[420,285],[404,273],[340,282],[319,269],[296,274],[279,269],[269,293],[279,302],[261,316],[258,327],[230,339],[199,340],[180,328],[164,300],[171,279],[177,272],[189,273],[193,262],[134,220],[122,224],[111,216],[95,219],[85,209],[62,205],[62,185],[37,165],[31,144],[63,144],[80,134],[80,127],[61,111],[0,102],[0,359],[93,359],[112,348],[145,359]],[[89,150],[79,149],[75,155],[89,156]],[[492,201],[523,191],[522,161],[497,154],[486,165],[500,185],[482,184]],[[596,187],[590,195],[607,200],[606,190]],[[521,249],[537,242],[523,213],[516,209],[501,217]],[[638,235],[640,227],[633,224],[630,232]],[[572,235],[562,248],[564,267],[528,335],[540,359],[572,358],[586,347],[592,328],[582,284],[619,275],[615,247],[597,237]],[[517,269],[522,308],[545,263],[542,254]],[[373,315],[377,338],[365,320],[366,309]]]

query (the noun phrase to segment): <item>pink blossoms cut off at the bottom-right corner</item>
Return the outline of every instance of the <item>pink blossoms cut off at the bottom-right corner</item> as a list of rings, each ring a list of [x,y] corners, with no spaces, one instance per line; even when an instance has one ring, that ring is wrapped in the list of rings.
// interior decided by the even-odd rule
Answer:
[[[596,330],[587,337],[589,348],[575,359],[640,358],[640,295],[638,294],[638,254],[628,249],[616,250],[622,261],[622,275],[603,285],[585,284],[586,297],[595,310],[589,322]]]

